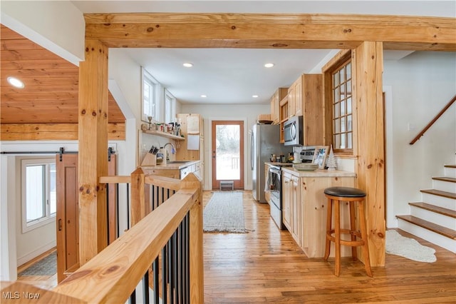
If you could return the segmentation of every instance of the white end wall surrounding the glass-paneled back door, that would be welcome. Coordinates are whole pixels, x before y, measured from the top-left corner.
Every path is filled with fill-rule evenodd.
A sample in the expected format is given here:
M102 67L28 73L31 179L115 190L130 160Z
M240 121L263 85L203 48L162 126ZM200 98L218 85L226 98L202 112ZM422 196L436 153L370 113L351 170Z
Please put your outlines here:
M257 123L259 114L269 113L271 107L264 105L207 105L182 104L182 113L199 113L204 119L204 190L212 189L212 121L232 120L244 121L244 188L252 190L252 172L250 171L250 136L249 131Z

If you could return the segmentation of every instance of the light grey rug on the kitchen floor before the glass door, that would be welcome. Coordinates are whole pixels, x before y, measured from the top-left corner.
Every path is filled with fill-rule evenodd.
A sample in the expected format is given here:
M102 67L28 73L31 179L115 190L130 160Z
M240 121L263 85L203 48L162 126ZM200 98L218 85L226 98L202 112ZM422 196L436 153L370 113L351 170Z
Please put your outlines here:
M242 191L217 191L203 211L204 232L247 233Z

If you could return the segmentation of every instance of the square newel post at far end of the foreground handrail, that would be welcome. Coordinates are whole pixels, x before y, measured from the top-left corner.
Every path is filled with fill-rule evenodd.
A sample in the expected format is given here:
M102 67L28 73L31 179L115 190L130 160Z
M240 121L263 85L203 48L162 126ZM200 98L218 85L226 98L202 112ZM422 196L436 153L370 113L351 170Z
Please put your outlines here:
M204 303L204 260L202 248L202 182L193 173L182 180L182 188L198 188L190 209L190 303Z

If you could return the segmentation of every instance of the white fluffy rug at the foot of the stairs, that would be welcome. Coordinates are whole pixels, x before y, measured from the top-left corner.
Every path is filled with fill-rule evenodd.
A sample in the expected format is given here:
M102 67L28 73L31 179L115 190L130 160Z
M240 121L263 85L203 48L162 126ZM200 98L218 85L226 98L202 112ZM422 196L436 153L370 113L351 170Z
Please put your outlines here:
M396 230L386 230L386 253L425 263L437 260L433 248L423 246L413 238L405 238Z

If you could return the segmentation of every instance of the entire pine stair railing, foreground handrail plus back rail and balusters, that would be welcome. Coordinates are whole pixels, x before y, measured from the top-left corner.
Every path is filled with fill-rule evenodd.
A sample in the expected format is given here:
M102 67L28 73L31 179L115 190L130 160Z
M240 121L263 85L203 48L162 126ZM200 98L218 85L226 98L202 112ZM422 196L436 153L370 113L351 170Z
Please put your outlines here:
M193 173L182 181L136 173L143 184L135 184L132 173L131 183L138 186L132 186L132 207L137 203L133 188L142 191L145 185L158 185L177 191L53 290L21 282L2 282L2 294L11 295L11 303L16 292L40 294L33 303L125 303L135 296L135 288L147 276L147 270L185 222L187 235L190 235L187 244L189 300L185 303L204 303L201 181ZM158 293L157 289L158 286L154 293Z

